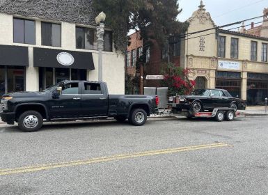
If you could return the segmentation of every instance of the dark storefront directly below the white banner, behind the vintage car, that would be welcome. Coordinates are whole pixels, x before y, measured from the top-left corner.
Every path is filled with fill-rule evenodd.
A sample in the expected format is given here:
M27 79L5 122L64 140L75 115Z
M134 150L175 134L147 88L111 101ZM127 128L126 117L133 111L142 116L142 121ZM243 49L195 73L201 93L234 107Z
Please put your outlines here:
M226 89L234 98L241 98L241 72L217 72L216 88Z

